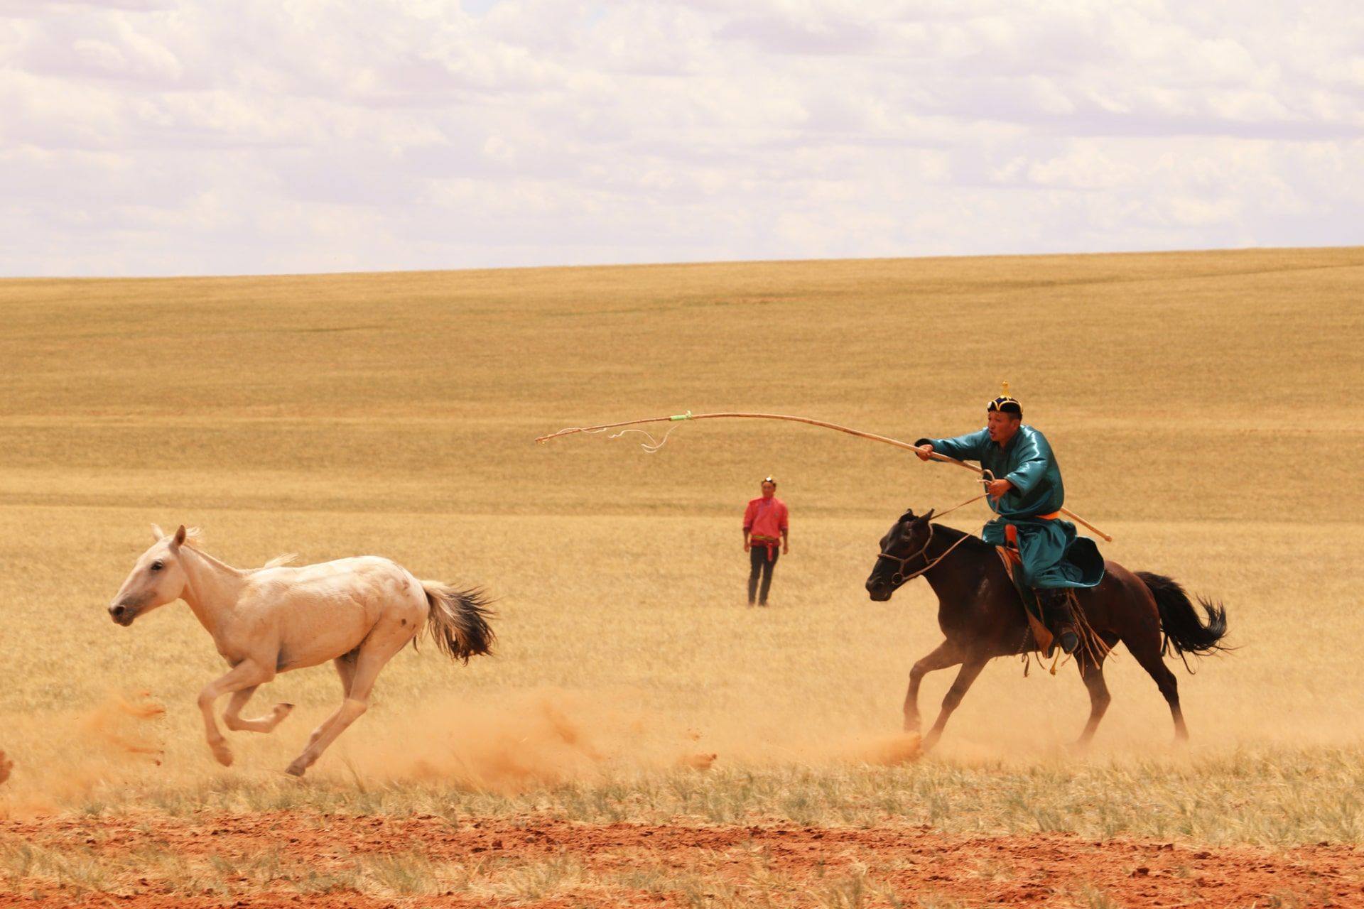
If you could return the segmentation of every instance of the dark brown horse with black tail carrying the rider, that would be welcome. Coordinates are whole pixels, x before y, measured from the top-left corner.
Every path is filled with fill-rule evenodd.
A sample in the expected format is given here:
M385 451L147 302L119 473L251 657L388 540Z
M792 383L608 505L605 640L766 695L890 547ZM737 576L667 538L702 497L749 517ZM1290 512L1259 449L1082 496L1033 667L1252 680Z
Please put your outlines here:
M937 743L948 717L986 662L1037 650L1023 601L994 546L979 537L934 525L932 518L932 511L923 517L906 511L881 537L881 553L866 579L866 590L877 602L889 600L900 585L919 575L938 597L938 627L947 641L910 671L910 690L904 695L906 732L919 730L918 699L923 676L955 665L962 669L943 698L937 722L923 739L925 751ZM1226 650L1221 643L1226 635L1226 611L1200 597L1199 604L1207 613L1204 624L1178 583L1147 571L1128 571L1114 561L1105 561L1103 581L1097 587L1078 589L1076 596L1086 620L1103 643L1113 647L1121 641L1155 680L1170 705L1174 735L1188 739L1178 685L1163 656L1170 649L1181 658ZM1075 657L1090 691L1090 721L1078 743L1086 745L1108 710L1109 692L1103 683L1102 649L1080 647Z

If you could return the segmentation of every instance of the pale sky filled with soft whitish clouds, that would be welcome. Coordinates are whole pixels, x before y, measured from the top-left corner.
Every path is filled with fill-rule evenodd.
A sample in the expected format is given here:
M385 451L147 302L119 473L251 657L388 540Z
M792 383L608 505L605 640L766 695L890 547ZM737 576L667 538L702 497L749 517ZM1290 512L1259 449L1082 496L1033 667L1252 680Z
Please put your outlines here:
M0 0L0 277L1361 225L1357 0Z

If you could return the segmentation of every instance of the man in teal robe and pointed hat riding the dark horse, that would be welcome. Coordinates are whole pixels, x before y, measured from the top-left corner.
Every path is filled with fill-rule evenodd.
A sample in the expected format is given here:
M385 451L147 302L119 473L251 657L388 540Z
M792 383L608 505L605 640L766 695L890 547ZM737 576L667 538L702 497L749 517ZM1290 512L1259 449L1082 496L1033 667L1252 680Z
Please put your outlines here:
M919 439L919 461L944 454L958 461L979 461L986 470L990 511L981 538L996 546L1018 546L1019 583L1038 593L1045 621L1065 653L1079 646L1068 587L1093 587L1103 579L1103 559L1088 537L1061 519L1065 488L1046 436L1023 422L1023 405L1003 394L986 405L986 427L952 439ZM1048 649L1050 656L1050 649Z

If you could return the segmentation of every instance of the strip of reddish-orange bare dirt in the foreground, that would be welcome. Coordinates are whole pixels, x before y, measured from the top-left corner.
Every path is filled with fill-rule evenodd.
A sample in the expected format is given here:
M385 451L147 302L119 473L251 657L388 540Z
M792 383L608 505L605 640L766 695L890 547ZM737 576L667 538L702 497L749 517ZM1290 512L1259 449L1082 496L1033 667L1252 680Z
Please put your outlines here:
M779 880L773 905L1012 906L1364 906L1364 849L1319 844L1284 852L1252 848L1199 849L1155 841L1094 842L1068 834L947 837L919 827L870 830L771 826L584 825L537 816L405 819L351 815L259 814L48 818L0 820L0 853L19 842L82 857L115 857L155 848L187 860L218 856L236 864L278 850L281 865L336 869L357 857L420 853L431 861L488 861L513 868L567 857L582 865L577 887L550 899L447 893L375 898L353 890L300 894L286 880L231 895L173 893L168 882L131 878L115 893L82 893L49 879L16 879L0 867L0 906L82 905L199 909L209 906L686 906L697 894L667 887L630 889L621 879L656 869L662 878L697 875L730 882L739 902L761 902L762 880ZM829 887L865 868L881 890L863 902L831 902ZM761 869L761 871L760 871ZM760 871L756 876L754 872ZM764 876L768 875L768 876ZM229 876L228 883L232 883ZM1102 894L1097 897L1095 891ZM840 894L842 895L842 894ZM41 902L35 897L42 898ZM690 902L689 902L690 898ZM1109 902L1103 902L1106 898ZM723 905L726 899L711 901Z

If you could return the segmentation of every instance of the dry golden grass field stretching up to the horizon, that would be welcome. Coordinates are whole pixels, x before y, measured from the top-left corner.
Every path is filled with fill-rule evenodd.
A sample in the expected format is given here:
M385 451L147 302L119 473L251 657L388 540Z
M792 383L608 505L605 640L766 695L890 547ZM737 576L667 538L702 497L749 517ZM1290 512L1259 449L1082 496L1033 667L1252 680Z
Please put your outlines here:
M0 818L1361 844L1361 300L1364 248L3 281ZM1073 665L1024 679L998 660L938 751L892 760L936 601L918 581L873 604L862 583L904 507L974 495L963 470L767 421L683 424L653 455L640 436L533 443L685 410L956 435L1001 379L1057 450L1067 504L1116 537L1105 555L1225 602L1239 650L1177 668L1188 748L1120 649L1084 756L1065 748L1088 710ZM750 611L739 518L769 473L791 555ZM327 666L282 675L247 714L299 709L232 733L220 767L195 707L222 672L209 635L184 604L131 628L105 612L151 522L203 527L236 566L378 553L486 586L498 653L401 653L301 784L280 771L340 687ZM928 722L952 675L925 681ZM697 754L711 770L685 766ZM0 839L0 894L120 891L125 874ZM390 878L352 884L427 886ZM487 894L582 882L542 884Z

